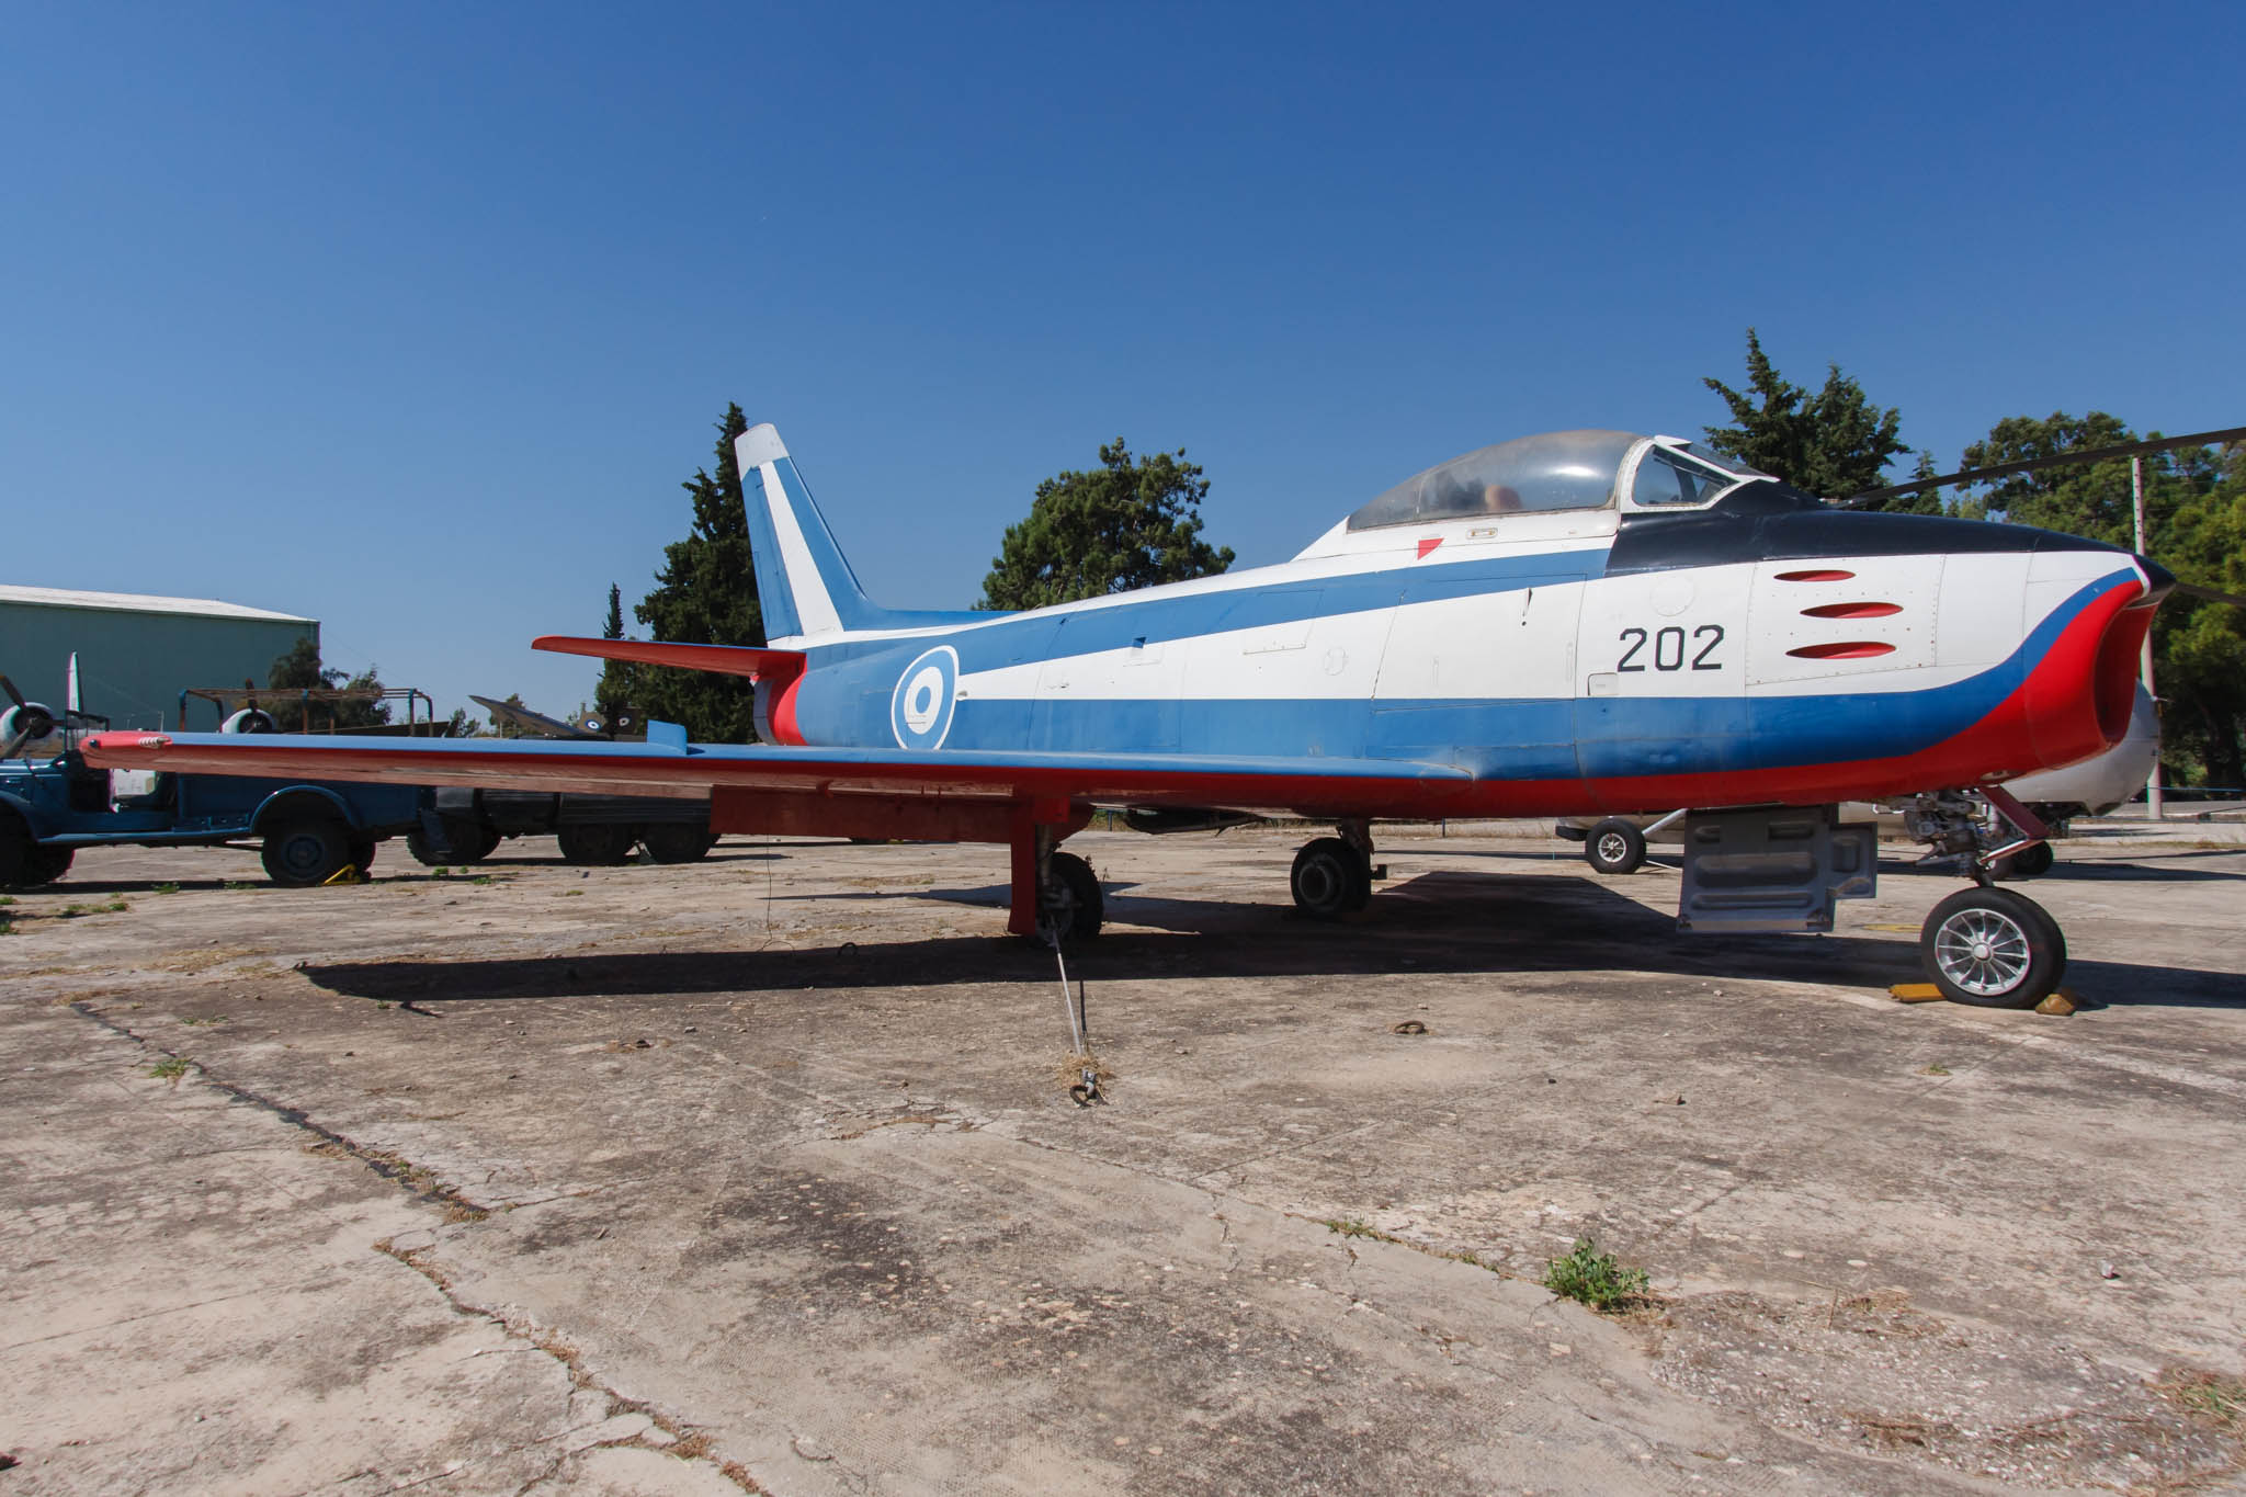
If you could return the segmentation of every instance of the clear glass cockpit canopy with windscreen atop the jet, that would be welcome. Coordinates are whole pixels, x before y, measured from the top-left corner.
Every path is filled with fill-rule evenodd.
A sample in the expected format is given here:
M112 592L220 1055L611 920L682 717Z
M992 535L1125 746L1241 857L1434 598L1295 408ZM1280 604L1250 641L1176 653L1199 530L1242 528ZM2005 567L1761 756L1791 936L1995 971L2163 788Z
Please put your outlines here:
M1635 465L1631 458L1637 458ZM1426 525L1480 514L1604 509L1628 483L1633 507L1702 507L1763 480L1693 442L1635 431L1547 431L1482 447L1406 478L1350 516L1350 530Z

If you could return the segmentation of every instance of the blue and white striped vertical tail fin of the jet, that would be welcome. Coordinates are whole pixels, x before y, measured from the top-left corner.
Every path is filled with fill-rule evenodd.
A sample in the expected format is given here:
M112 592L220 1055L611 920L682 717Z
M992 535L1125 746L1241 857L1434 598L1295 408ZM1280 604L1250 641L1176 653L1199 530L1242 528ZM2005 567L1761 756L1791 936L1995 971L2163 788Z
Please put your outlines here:
M849 635L865 628L914 628L988 619L988 613L898 613L878 608L858 586L795 458L770 422L732 442L748 505L748 548L757 561L757 601L764 637L779 649Z

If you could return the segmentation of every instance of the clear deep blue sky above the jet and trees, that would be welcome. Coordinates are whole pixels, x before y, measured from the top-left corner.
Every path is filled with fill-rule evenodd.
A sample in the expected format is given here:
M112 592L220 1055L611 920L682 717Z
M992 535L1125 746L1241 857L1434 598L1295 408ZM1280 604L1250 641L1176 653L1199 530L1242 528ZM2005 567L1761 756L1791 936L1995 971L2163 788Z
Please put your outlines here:
M2019 413L2230 426L2242 43L2235 4L18 4L0 581L308 613L445 709L566 711L595 667L528 640L649 586L728 399L894 606L973 601L1116 435L1278 561L1485 442L1720 422L1750 323L1945 465Z

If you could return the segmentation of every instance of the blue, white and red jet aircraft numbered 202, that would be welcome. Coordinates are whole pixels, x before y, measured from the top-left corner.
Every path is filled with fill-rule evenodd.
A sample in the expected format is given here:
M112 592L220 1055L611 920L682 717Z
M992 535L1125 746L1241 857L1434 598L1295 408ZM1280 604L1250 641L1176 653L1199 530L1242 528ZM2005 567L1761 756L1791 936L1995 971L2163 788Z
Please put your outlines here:
M1830 929L1875 878L1833 806L1916 797L1976 887L1920 949L2033 1003L2064 938L1988 869L2042 837L1999 781L2129 727L2174 579L2080 536L1826 505L1702 447L1518 438L1431 467L1278 566L1026 613L867 599L779 433L737 442L770 644L541 637L748 676L757 745L101 734L92 763L710 797L721 833L993 842L1008 929L1092 936L1094 808L1143 830L1307 817L1303 913L1372 891L1375 819L1691 806L1680 925ZM2006 812L1990 824L1976 790Z

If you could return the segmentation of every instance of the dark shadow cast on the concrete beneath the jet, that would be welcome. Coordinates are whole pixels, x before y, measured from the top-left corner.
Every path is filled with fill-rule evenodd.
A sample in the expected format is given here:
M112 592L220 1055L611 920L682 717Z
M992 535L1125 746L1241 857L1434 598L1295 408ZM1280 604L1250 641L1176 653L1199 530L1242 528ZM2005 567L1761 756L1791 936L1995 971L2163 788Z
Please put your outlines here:
M1918 943L1909 938L1680 936L1667 913L1588 878L1428 873L1384 889L1372 909L1336 925L1303 920L1291 907L1141 898L1123 889L1114 887L1110 920L1152 929L1116 929L1071 947L1071 974L1101 983L1631 970L1875 990L1923 981ZM1004 887L874 898L1002 907ZM303 967L303 976L346 997L458 1003L1042 983L1051 981L1053 965L1051 954L1029 940L948 936L811 949L326 963ZM2084 961L2066 981L2116 1005L2246 1003L2246 983L2228 972Z

